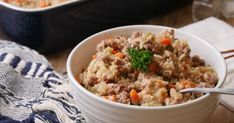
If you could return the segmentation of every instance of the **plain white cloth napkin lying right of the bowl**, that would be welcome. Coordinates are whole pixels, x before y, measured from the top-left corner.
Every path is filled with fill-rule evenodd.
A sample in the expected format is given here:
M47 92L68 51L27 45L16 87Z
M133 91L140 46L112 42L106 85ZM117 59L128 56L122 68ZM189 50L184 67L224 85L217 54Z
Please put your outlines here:
M182 27L179 30L198 36L214 45L218 50L234 49L234 28L215 17ZM230 54L225 54L230 55ZM234 58L226 60L228 74L223 88L234 88ZM221 95L220 103L234 111L234 96Z

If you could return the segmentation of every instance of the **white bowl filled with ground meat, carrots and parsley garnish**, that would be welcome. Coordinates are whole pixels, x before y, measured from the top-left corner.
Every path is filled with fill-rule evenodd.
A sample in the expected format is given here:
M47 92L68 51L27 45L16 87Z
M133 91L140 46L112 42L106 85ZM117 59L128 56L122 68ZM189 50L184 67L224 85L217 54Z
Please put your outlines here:
M87 121L100 123L205 122L219 95L180 90L219 88L226 78L224 59L212 45L153 25L88 37L70 53L67 71Z

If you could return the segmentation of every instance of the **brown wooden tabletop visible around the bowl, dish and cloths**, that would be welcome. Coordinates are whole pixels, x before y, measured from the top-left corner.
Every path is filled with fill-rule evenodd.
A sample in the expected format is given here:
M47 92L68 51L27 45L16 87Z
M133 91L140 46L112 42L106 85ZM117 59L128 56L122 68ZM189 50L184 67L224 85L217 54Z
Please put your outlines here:
M221 19L225 20L226 22L234 26L234 19L233 20L225 19L223 17L221 17ZM145 21L145 24L163 25L175 28L179 28L191 23L192 23L191 4L182 7L180 9L177 9L176 11L169 12L166 15ZM1 38L5 37L1 33L0 36ZM71 49L67 49L61 52L48 54L46 55L46 57L51 62L55 70L62 73L66 72L66 67L65 67L66 59L70 51ZM216 111L211 116L208 123L234 123L234 112L230 111L229 109L225 108L222 105L219 105Z

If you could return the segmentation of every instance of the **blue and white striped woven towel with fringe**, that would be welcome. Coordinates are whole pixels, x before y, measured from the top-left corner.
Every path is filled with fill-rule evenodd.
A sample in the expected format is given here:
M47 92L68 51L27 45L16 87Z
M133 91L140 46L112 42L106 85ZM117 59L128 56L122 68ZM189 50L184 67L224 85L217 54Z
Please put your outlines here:
M0 122L85 122L65 78L36 51L0 41Z

